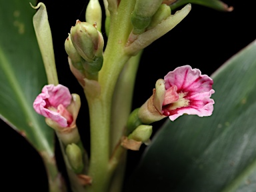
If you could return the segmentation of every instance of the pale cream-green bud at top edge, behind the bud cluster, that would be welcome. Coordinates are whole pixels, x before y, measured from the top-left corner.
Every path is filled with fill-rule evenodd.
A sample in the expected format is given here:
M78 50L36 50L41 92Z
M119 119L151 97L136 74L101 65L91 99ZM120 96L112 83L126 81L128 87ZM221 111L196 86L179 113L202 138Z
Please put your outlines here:
M101 5L99 5L99 1L90 0L85 12L86 21L91 25L94 25L96 23L97 30L101 31L101 17L102 17L102 11L101 11Z

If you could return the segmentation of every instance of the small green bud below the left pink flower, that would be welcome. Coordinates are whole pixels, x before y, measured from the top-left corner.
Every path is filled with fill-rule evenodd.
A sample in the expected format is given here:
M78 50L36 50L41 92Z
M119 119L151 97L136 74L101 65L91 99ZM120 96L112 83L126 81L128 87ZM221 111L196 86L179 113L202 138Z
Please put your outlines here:
M75 173L83 171L83 155L81 149L75 144L71 143L66 147L67 159Z

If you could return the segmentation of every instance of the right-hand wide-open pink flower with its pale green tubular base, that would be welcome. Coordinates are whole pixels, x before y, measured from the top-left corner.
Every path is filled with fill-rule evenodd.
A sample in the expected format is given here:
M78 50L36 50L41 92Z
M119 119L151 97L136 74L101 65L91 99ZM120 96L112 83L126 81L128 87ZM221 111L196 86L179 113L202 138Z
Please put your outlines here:
M169 116L174 121L183 114L210 116L213 113L213 79L201 75L189 65L177 67L158 79L153 95L139 109L143 123L153 123Z

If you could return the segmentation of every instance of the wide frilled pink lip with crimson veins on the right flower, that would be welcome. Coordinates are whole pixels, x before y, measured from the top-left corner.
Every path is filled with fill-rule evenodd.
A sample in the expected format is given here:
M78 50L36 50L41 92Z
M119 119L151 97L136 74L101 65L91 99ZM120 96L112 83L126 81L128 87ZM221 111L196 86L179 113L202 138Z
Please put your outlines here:
M177 67L174 71L165 75L166 93L173 87L177 87L179 99L173 103L163 102L163 115L169 116L171 121L184 113L198 115L199 117L210 116L213 113L213 99L211 94L213 79L208 75L201 75L199 69L192 69L189 65Z

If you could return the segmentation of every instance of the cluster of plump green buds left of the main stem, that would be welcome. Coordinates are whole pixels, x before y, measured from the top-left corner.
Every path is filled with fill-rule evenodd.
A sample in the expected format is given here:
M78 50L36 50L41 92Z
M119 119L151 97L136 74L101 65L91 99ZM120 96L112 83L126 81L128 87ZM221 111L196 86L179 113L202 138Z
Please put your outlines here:
M103 64L104 40L96 25L77 20L65 41L69 67L84 87L84 79L97 80Z

